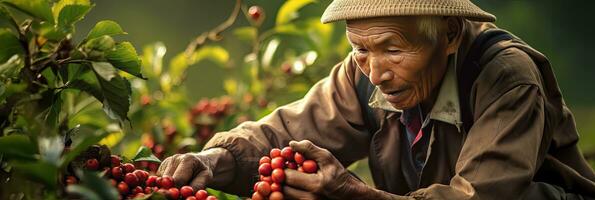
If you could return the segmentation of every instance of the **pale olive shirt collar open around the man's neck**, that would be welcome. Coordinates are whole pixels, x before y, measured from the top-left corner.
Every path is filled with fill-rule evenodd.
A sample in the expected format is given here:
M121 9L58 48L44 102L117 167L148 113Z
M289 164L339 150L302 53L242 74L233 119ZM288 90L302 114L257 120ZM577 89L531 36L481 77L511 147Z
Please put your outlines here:
M448 69L442 80L438 97L436 102L428 114L428 118L446 122L455 125L459 131L463 122L461 121L461 109L459 106L459 90L457 85L456 74L456 54L448 58ZM382 92L376 87L372 92L372 96L368 100L368 105L371 108L380 108L386 111L399 112L403 111L394 108L382 95Z

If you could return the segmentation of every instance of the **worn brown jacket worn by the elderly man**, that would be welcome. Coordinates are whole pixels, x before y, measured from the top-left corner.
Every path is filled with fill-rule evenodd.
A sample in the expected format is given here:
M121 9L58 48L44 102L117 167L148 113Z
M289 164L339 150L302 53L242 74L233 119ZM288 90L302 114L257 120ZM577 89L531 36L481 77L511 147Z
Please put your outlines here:
M363 74L348 56L306 96L257 122L221 132L205 148L223 147L236 161L226 188L247 195L258 160L273 147L308 139L345 166L369 157L376 187L415 199L565 199L595 197L595 173L581 156L578 133L547 59L527 45L500 42L474 83L473 126L461 128L454 71L473 39L491 23L465 23L464 39L429 114L432 132L419 188L404 183L400 164L400 112L373 95L380 130L367 133L356 96ZM499 51L505 47L505 50ZM498 52L498 53L494 53Z

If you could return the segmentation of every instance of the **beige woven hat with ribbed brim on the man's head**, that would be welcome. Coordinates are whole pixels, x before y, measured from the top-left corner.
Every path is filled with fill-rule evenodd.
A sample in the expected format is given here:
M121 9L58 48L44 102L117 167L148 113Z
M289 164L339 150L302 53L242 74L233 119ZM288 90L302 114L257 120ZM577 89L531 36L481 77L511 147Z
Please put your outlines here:
M322 23L387 16L460 16L494 22L496 17L469 0L334 0L322 14Z

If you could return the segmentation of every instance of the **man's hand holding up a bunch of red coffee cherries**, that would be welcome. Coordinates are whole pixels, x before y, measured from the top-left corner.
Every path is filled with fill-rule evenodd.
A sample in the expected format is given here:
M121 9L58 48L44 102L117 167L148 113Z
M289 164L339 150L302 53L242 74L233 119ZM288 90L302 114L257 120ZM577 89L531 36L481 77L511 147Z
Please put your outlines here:
M316 161L319 169L316 174L286 169L283 193L288 199L408 199L369 187L352 176L330 151L308 140L291 141L289 146Z

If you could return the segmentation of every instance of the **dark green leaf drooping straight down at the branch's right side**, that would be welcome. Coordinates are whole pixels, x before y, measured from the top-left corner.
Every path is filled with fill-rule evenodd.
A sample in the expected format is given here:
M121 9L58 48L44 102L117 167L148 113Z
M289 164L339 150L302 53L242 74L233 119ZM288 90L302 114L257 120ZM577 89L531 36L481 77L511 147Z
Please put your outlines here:
M127 121L132 94L130 82L122 78L110 63L93 62L92 67L101 86L104 112L112 119Z

